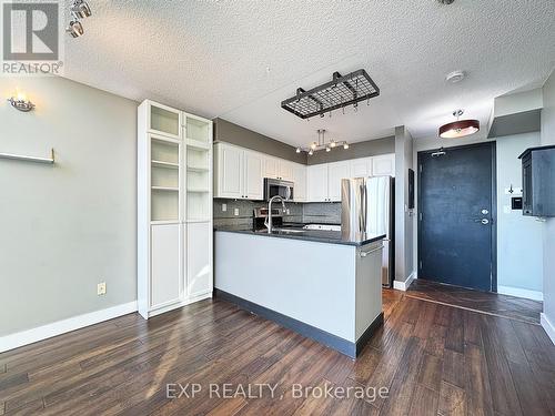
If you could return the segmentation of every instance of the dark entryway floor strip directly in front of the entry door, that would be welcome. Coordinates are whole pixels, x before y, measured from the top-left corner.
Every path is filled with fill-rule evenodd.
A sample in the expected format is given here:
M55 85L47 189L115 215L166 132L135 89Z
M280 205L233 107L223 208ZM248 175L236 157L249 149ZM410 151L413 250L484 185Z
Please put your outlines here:
M532 324L539 324L539 313L543 311L542 302L538 301L473 291L423 278L415 280L406 295Z

